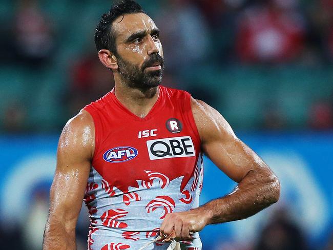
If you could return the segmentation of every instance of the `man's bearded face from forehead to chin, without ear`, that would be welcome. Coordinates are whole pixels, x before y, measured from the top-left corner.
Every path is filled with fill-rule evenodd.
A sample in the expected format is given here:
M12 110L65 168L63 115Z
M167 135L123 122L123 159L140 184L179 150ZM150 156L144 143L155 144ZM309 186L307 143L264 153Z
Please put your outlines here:
M159 30L146 14L119 16L113 22L118 71L132 87L157 87L164 69Z

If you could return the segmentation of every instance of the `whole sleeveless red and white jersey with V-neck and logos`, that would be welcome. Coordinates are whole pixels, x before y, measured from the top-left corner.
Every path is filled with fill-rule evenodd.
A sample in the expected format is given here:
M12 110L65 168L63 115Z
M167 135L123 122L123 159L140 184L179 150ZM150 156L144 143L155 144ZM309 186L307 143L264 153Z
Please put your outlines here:
M95 124L95 152L85 202L91 224L88 249L139 249L159 235L169 213L199 206L203 164L191 96L159 87L144 118L117 100L114 90L84 109ZM198 233L181 249L201 250ZM157 241L147 249L166 249Z

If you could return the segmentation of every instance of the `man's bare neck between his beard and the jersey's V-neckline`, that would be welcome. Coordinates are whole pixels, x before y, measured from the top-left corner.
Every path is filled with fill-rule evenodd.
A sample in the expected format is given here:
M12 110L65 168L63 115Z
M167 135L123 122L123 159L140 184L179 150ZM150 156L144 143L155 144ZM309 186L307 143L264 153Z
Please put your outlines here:
M145 117L159 97L159 88L134 88L117 81L115 77L115 95L121 104L138 117Z

